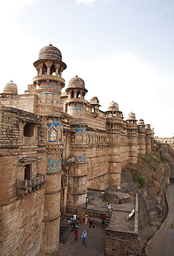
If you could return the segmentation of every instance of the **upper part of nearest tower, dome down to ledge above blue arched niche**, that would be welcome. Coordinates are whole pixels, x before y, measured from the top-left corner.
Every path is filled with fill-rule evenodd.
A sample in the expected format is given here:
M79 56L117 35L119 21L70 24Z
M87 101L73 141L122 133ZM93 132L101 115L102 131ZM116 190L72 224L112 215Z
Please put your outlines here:
M38 113L45 116L59 115L61 89L65 86L61 73L66 69L61 52L52 44L43 47L39 51L38 60L33 65L37 69L33 84L38 95Z

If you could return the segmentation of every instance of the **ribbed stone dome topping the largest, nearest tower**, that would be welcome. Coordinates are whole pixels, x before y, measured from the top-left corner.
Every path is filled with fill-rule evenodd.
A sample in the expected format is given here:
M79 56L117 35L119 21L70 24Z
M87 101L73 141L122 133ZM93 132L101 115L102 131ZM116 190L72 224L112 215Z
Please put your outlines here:
M39 57L38 60L61 60L61 51L57 49L55 46L52 46L52 44L49 44L49 46L41 48L41 51L39 51Z

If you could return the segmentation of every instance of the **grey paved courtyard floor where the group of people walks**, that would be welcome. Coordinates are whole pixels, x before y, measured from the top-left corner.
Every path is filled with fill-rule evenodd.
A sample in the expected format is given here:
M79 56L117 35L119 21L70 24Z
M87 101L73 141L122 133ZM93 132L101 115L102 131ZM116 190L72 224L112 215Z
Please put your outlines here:
M78 220L77 220L78 221ZM88 225L79 224L78 241L75 240L75 233L71 232L71 228L66 230L68 240L66 244L59 244L59 256L104 256L105 250L105 230L95 225L95 228L88 228ZM87 247L82 245L82 232L87 232Z

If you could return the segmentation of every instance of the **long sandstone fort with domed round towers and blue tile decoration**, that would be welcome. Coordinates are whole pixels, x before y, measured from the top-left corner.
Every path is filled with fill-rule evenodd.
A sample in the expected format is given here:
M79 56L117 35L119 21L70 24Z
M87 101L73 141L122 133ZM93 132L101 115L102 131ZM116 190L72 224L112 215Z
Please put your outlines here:
M106 201L115 203L110 221L121 198L126 206L120 218L135 210L127 230L120 229L121 222L112 224L115 230L108 226L106 255L112 255L113 244L120 246L118 236L124 237L126 253L137 252L138 199L122 194L121 174L151 152L151 125L132 112L124 120L114 101L101 111L96 96L85 99L88 90L80 77L72 77L62 91L66 64L55 46L43 47L33 65L37 75L25 93L18 95L11 81L0 98L0 255L58 255L61 214L78 214L91 191L107 192ZM99 211L93 214L99 217Z

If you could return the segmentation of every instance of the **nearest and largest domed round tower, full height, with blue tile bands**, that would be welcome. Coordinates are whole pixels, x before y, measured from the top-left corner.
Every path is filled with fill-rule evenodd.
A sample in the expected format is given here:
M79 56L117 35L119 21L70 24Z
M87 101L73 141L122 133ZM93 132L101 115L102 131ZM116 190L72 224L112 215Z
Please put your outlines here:
M39 58L33 64L37 69L33 80L38 96L37 113L47 117L47 179L40 247L41 253L47 255L57 255L59 251L61 155L64 145L60 95L65 84L61 73L66 68L61 59L59 49L50 44L39 51Z

